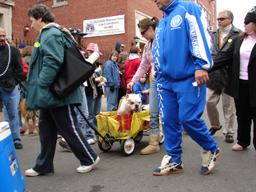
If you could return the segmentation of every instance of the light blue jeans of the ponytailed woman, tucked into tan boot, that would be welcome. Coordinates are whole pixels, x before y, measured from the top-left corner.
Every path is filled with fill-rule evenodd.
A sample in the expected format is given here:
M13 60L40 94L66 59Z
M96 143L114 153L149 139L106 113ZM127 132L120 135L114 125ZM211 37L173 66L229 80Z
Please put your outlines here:
M159 134L159 112L155 81L151 81L149 90L149 134Z

